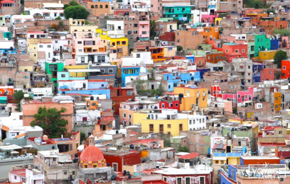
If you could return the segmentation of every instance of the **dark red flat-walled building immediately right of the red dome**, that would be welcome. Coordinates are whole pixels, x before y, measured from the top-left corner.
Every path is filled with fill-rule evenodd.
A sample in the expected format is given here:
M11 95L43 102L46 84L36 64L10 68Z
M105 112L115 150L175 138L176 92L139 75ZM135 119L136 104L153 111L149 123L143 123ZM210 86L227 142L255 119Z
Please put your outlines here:
M103 155L114 171L122 172L123 165L141 164L140 151L104 151Z

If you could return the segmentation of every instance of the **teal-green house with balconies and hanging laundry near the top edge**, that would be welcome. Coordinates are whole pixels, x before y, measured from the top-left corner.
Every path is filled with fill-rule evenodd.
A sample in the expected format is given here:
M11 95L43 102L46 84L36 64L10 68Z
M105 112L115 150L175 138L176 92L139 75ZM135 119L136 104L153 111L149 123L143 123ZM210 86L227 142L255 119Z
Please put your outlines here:
M191 10L193 10L194 7L194 5L163 6L163 17L189 22L192 15Z

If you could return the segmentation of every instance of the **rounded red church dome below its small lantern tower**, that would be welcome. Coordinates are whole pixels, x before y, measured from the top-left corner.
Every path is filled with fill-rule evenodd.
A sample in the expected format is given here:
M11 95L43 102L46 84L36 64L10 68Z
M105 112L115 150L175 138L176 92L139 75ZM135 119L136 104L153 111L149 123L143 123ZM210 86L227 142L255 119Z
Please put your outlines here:
M88 146L82 152L79 160L84 161L84 163L88 163L92 161L92 163L97 163L98 161L104 160L104 155L99 148L95 146Z

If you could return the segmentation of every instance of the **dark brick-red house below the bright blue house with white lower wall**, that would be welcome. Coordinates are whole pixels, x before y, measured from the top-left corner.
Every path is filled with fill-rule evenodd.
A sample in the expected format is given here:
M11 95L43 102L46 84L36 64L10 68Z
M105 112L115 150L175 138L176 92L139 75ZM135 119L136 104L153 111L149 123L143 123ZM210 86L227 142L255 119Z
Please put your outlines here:
M113 88L110 86L110 96L113 102L113 110L115 115L119 115L120 102L128 99L135 99L133 87Z

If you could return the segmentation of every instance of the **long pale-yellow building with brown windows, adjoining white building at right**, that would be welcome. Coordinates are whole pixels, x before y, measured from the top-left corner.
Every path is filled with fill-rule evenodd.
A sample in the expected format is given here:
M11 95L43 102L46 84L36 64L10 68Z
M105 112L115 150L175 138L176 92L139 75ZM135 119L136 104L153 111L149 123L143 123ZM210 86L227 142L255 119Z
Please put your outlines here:
M188 119L156 119L156 113L135 112L134 123L142 126L142 133L163 133L179 136L179 131L188 130ZM153 119L155 118L155 119Z

